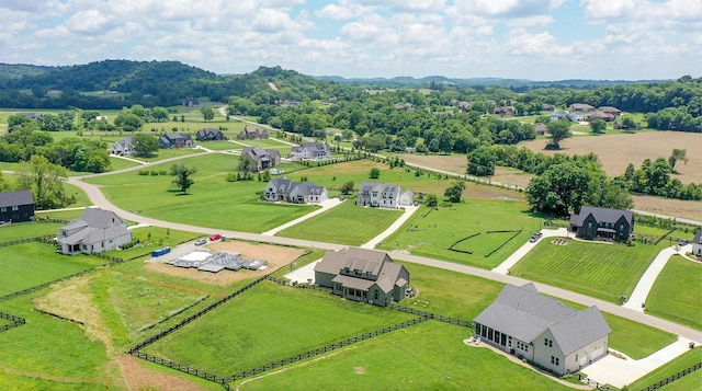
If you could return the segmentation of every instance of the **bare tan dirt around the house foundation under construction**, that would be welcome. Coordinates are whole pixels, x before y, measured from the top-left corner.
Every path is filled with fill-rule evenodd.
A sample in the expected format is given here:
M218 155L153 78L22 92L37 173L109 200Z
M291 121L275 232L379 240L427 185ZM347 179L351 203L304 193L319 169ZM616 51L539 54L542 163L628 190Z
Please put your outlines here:
M212 253L217 252L238 252L241 253L241 257L245 260L260 258L268 261L268 267L264 271L222 271L217 274L199 272L191 268L176 267L163 263L149 263L145 267L152 272L168 274L170 276L193 278L202 283L213 285L229 285L231 283L263 276L272 273L282 266L295 261L305 251L302 249L283 248L271 244L256 244L249 242L230 241L230 242L215 242L207 244L205 249Z

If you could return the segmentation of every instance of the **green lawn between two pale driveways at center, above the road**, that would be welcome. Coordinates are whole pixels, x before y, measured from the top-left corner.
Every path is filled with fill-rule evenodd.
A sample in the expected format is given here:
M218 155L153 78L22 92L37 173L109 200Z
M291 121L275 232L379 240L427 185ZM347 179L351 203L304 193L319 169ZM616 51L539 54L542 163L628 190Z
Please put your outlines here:
M375 238L403 215L401 210L366 208L354 199L290 227L279 237L361 245Z

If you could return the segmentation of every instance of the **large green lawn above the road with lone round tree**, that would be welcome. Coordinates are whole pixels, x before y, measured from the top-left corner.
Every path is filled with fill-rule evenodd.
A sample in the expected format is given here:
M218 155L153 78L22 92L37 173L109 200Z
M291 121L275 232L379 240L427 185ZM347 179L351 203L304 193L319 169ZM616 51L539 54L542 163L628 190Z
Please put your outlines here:
M258 181L226 182L227 172L234 171L239 159L210 153L184 161L197 173L186 195L171 184L169 175L137 175L127 172L88 179L115 205L127 210L139 210L168 221L178 221L214 229L264 232L294 220L315 207L271 204L259 200L265 183ZM171 163L155 165L150 170L169 170Z

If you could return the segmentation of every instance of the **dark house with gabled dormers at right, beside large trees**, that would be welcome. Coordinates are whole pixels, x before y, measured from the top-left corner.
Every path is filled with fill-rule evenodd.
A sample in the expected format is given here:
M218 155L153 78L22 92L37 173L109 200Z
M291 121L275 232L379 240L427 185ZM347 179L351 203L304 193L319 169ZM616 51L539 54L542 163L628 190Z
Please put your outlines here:
M579 214L570 215L570 231L582 239L626 242L634 232L634 214L631 210L584 206Z

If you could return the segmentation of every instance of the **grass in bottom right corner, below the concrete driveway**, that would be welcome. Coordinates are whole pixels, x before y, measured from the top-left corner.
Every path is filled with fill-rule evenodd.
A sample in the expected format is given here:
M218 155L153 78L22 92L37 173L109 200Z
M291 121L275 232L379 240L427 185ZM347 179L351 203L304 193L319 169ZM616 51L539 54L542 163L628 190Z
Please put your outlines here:
M694 348L686 352L670 363L664 364L660 368L653 372L637 379L633 383L629 384L629 390L637 391L646 387L653 386L658 381L665 380L684 369L694 366L698 363L702 363L702 348ZM689 391L699 390L702 384L702 369L698 369L692 373L689 373L681 379L678 379L661 388L664 391Z

